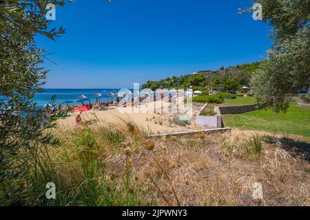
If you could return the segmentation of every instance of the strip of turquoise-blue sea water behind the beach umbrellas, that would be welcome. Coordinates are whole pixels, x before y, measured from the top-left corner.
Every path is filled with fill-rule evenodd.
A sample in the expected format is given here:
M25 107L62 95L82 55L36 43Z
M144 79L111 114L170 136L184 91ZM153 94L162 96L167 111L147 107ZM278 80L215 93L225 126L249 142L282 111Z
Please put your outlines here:
M79 96L84 95L90 98L91 102L96 102L95 94L107 95L111 92L117 94L119 89L43 89L39 94L36 94L32 100L37 102L38 107L42 107L44 104L48 104L51 101L53 95L56 95L55 104L61 104L65 100L71 100L72 104L81 104L76 102L79 100ZM101 102L107 100L116 100L116 97L101 98Z

